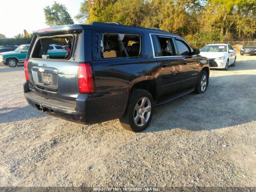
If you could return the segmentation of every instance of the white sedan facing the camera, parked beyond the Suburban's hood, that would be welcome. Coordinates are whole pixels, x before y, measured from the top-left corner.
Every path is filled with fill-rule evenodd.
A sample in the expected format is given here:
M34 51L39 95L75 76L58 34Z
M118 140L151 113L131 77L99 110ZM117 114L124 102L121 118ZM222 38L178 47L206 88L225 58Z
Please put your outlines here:
M236 65L236 51L230 44L209 44L202 48L200 55L208 58L210 68L228 70Z

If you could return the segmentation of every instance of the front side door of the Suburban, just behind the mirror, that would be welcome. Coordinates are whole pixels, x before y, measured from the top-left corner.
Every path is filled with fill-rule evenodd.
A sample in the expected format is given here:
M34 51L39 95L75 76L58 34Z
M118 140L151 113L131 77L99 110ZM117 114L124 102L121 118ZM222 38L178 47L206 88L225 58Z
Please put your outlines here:
M193 88L198 81L198 60L192 56L190 46L181 38L175 38L178 54L180 55L182 64L182 82L181 90Z

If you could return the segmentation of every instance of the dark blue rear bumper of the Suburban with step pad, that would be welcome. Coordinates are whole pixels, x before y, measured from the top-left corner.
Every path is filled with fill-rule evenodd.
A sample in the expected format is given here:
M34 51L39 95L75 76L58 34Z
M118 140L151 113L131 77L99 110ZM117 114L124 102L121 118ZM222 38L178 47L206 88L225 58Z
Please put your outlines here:
M75 102L52 100L30 92L28 82L24 83L24 96L28 104L42 112L82 124L120 118L128 100L122 93L78 94Z

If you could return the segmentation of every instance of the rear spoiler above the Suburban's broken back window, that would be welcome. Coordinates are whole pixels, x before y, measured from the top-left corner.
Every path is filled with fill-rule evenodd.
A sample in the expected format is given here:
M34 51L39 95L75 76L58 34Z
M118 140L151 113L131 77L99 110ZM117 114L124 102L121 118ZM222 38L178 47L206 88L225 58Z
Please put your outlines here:
M33 35L40 35L40 34L49 34L49 33L55 33L55 32L70 32L75 30L82 30L84 29L82 26L78 24L74 25L61 25L61 26L55 26L50 28L44 28L37 31L33 31Z

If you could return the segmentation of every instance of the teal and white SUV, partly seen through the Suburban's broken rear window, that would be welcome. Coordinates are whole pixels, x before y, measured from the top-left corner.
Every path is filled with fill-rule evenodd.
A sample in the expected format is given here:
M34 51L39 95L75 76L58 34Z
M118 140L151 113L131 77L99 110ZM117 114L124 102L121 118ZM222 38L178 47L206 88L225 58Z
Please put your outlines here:
M20 45L14 51L0 53L0 63L8 65L9 67L16 67L18 64L23 64L28 52L29 44ZM66 56L67 50L60 45L50 44L47 55L49 57Z

